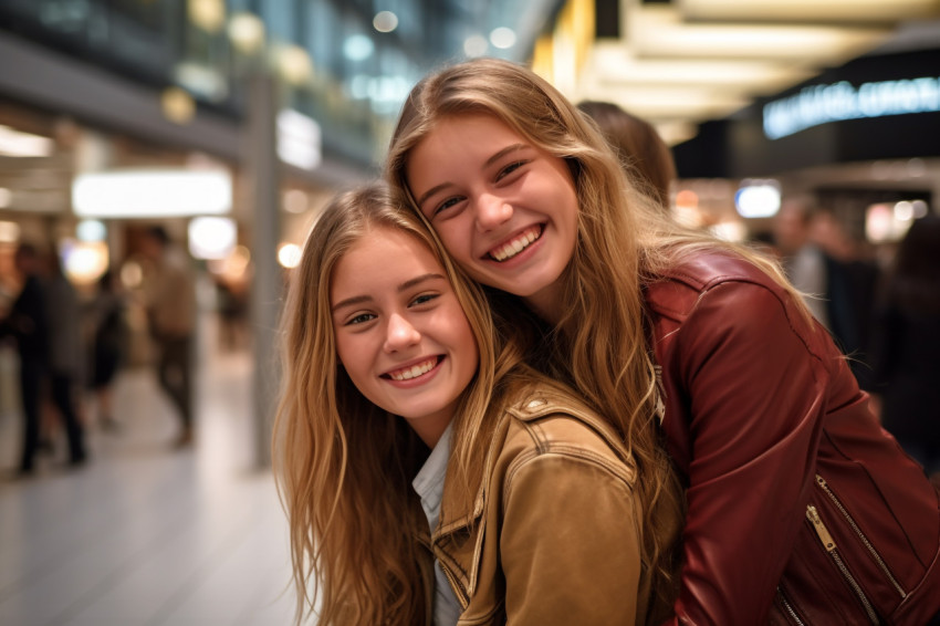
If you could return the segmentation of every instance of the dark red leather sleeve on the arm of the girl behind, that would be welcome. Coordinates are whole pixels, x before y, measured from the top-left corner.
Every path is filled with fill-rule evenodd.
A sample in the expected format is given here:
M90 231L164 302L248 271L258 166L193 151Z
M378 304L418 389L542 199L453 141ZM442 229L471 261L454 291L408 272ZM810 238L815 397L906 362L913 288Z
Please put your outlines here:
M829 340L786 296L727 282L675 341L664 365L685 396L691 457L670 624L759 624L805 519L828 383L811 346Z

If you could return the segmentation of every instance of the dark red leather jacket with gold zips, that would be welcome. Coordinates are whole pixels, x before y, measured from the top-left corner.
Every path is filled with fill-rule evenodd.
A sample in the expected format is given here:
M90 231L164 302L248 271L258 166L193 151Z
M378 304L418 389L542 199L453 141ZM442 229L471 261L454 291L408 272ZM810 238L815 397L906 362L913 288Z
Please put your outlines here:
M740 259L664 279L647 305L689 505L671 624L927 623L938 492L826 331Z

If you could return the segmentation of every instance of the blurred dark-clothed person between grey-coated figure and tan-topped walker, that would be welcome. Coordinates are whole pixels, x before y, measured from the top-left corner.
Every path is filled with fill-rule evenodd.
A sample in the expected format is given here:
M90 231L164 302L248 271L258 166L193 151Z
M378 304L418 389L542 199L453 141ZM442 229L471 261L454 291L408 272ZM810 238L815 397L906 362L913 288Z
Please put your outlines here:
M123 361L126 340L125 302L119 289L116 275L108 269L98 279L86 304L87 387L94 394L98 425L112 432L121 429L121 422L114 416L113 384Z

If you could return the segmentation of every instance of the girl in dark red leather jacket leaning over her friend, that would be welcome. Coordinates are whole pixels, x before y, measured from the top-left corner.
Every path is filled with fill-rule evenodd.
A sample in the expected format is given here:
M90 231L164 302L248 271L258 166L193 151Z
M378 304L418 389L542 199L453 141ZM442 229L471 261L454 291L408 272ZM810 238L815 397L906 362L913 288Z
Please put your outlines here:
M688 499L670 623L923 625L940 612L938 493L829 336L775 264L637 192L554 87L491 59L427 76L386 176L494 309L543 326L533 363L622 432L665 437ZM657 388L661 427L637 428Z

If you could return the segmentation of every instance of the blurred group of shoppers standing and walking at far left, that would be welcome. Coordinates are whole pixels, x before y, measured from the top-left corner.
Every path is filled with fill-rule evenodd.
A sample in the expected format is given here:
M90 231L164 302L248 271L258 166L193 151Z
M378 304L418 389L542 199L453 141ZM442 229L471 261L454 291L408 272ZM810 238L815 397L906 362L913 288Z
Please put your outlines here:
M65 467L70 469L90 459L86 431L91 426L121 432L113 386L127 361L132 303L146 311L157 380L179 416L174 446L192 444L190 352L196 294L191 270L160 226L142 231L137 252L147 267L138 292L126 290L119 277L106 270L92 289L80 293L58 253L31 242L18 246L13 264L19 290L0 316L0 341L8 342L18 356L22 444L17 477L35 473L36 457L54 453L60 432L67 441Z

